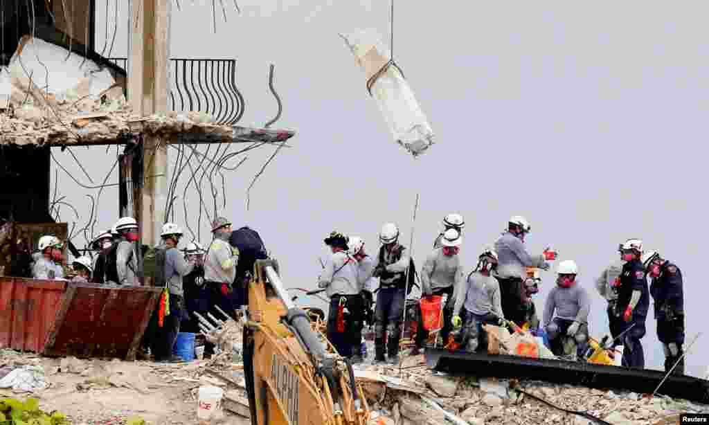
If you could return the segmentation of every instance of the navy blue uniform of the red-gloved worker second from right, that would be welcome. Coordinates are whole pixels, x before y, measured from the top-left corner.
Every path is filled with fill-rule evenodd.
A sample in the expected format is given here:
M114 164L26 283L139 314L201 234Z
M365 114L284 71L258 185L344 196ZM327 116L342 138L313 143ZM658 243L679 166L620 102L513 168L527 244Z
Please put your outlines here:
M635 309L632 310L632 318L630 322L623 320L623 329L625 331L633 324L635 326L625 333L623 343L623 365L627 368L644 368L645 356L642 351L640 339L645 336L645 318L650 305L650 295L647 290L647 279L645 276L645 268L640 260L628 261L623 264L623 271L620 273L620 289L618 290L618 311L622 315L630 304L632 293L640 291L640 300L637 302Z

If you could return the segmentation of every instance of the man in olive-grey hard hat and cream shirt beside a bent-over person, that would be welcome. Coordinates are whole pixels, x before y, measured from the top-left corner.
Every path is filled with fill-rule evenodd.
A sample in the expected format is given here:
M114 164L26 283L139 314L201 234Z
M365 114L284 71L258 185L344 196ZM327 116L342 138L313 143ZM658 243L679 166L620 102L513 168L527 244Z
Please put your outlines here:
M210 292L209 309L214 317L223 317L214 307L218 306L234 320L238 320L230 299L233 290L231 284L236 278L236 265L239 261L239 249L229 244L231 222L224 217L217 217L212 222L212 234L213 239L204 259L204 280Z

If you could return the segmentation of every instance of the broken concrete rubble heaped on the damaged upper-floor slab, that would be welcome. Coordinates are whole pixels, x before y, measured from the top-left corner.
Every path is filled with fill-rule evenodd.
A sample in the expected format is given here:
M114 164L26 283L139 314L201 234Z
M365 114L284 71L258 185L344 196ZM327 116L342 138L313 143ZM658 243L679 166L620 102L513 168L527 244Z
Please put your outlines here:
M26 35L9 66L0 67L0 143L105 144L138 132L233 137L231 127L207 113L135 116L124 86L124 76Z

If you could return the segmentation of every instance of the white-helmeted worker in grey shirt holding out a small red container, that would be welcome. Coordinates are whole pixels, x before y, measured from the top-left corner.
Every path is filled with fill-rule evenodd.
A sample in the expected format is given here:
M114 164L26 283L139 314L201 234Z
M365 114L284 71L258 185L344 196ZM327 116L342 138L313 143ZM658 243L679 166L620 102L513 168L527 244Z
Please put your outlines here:
M525 217L515 215L508 222L507 232L495 242L494 249L498 255L496 278L500 283L502 293L502 310L508 320L521 325L525 322L527 312L532 309L532 299L527 296L524 285L526 279L525 267L537 267L547 270L557 253L547 248L538 256L527 254L524 242L532 227Z

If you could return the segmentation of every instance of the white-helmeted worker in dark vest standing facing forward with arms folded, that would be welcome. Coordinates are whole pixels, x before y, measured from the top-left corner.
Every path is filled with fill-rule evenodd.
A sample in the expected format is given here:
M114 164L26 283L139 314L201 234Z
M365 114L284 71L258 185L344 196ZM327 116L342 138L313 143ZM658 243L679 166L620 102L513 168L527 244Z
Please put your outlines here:
M406 246L398 243L399 229L386 223L379 232L379 254L374 262L374 277L379 278L379 291L374 307L374 362L398 363L399 339L403 307L406 300L407 273L411 257ZM386 356L384 339L386 336Z

